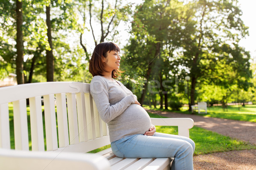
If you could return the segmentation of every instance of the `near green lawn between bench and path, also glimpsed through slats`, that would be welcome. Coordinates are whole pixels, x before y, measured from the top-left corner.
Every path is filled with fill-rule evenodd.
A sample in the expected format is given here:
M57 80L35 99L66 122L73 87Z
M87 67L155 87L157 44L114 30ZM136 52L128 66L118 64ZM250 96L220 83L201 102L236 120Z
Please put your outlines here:
M12 112L12 105L9 105L10 108L10 136L11 136L11 148L15 148L15 139L13 133L13 112ZM218 109L216 109L218 111ZM215 111L215 112L216 112ZM29 121L29 108L27 109L28 112L28 125L30 124ZM159 117L156 114L149 113L151 117ZM256 116L256 115L255 115ZM44 120L44 117L43 117ZM161 133L169 133L169 134L177 134L177 127L169 127L169 126L157 126L157 132ZM29 125L29 148L31 150L31 137L30 137L30 125ZM227 136L220 135L218 133L214 133L209 130L202 129L200 127L193 127L190 131L190 138L195 142L195 155L198 154L206 154L206 153L214 153L214 152L224 152L229 150L244 150L244 149L251 149L256 148L255 145L238 141L236 139L232 139ZM45 130L44 130L45 134ZM106 149L110 147L107 145L97 150L91 151L91 153L98 152L100 150ZM45 147L46 148L46 147Z

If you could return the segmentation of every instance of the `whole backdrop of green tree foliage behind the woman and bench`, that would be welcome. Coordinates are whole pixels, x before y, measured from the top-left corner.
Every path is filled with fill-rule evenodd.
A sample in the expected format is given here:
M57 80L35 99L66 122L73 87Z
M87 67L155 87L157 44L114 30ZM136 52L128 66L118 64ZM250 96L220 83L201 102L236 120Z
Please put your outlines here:
M125 72L119 79L141 103L177 110L189 101L224 108L229 102L256 102L256 59L238 44L248 28L237 0L0 0L0 79L17 74L18 2L24 83L47 81L47 50L54 57L54 81L90 82L92 37L94 45L123 46ZM127 44L119 42L120 24L128 26Z

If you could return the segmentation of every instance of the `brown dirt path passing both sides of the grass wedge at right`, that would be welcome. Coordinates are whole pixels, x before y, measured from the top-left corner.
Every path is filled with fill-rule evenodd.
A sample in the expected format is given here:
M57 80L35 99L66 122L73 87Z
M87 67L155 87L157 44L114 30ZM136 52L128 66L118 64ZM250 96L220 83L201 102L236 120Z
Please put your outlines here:
M147 110L171 118L188 117L195 126L256 145L256 123ZM234 150L194 156L194 170L256 170L256 150Z

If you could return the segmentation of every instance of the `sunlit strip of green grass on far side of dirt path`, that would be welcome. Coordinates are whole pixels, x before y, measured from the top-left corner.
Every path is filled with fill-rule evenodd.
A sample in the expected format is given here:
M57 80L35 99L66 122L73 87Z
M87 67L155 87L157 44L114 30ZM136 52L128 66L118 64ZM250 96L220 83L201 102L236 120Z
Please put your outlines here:
M148 106L145 106L145 108L150 109ZM188 111L188 107L182 107L181 111L171 111L171 108L170 110L164 110L164 109L159 109L159 106L157 106L157 109L154 109L154 110L191 114L191 112ZM232 120L240 120L240 121L247 121L247 122L256 122L256 105L240 106L240 111L239 111L238 105L228 106L228 111L223 111L222 106L211 106L207 108L207 114L205 113L198 114L197 112L194 112L194 114L198 116L215 117L215 118L221 118L221 119L232 119Z

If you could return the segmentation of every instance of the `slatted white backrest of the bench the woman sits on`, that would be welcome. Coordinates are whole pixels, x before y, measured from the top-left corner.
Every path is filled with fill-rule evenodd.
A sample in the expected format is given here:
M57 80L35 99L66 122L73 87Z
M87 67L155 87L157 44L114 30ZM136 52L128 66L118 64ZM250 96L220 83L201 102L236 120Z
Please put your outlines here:
M11 148L10 133L15 150L29 150L31 145L32 150L85 153L110 144L108 127L89 87L80 82L40 82L0 88L0 148Z

